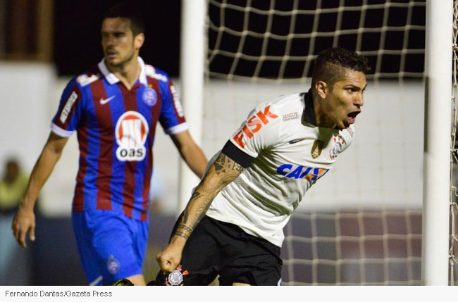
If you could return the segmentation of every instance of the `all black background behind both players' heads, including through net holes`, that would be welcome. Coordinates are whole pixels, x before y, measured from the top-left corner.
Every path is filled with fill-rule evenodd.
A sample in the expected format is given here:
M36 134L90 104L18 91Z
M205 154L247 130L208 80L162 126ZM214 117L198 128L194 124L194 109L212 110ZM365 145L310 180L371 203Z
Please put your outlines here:
M100 46L101 15L115 0L79 0L79 1L54 1L54 61L59 75L77 75L88 67L98 63L103 56ZM230 4L243 5L246 0L232 0ZM346 0L345 6L361 6L362 0ZM407 3L408 0L393 0L392 2ZM418 0L418 2L424 2ZM137 6L145 20L146 40L140 51L144 61L165 70L171 77L178 77L180 63L180 13L181 1L131 1L132 6ZM383 4L385 0L371 0L371 4ZM276 9L287 11L292 8L293 1L276 1ZM339 0L326 0L321 8L336 8ZM252 6L268 10L270 1L254 1ZM313 10L316 1L299 1L299 9ZM377 28L383 26L383 8L366 11L364 27ZM404 26L407 23L407 8L390 7L388 26ZM216 6L209 6L210 20L215 25L219 24L220 10ZM240 11L225 10L225 25L233 30L242 31L242 18L244 13ZM414 6L411 25L425 24L425 7ZM351 30L359 27L361 11L347 11L343 18L341 30ZM311 32L313 16L302 16L296 21L297 32ZM318 24L319 32L333 32L336 28L337 13L321 14ZM351 22L350 22L350 21ZM255 13L250 14L249 30L264 32L266 30L267 17ZM287 34L290 30L290 20L284 16L273 17L274 34ZM385 37L384 49L399 50L403 48L404 35L409 34L407 47L409 49L424 49L425 37L423 30L411 29L404 31L388 31ZM209 49L213 49L216 41L216 32L209 31ZM230 34L223 35L221 49L225 51L237 51L239 37ZM309 39L294 39L292 42L292 56L304 56L309 49ZM356 34L342 34L338 39L338 46L354 49L357 43ZM262 39L247 37L242 49L244 54L256 55L261 49ZM283 56L286 46L285 41L269 39L267 55ZM333 46L333 37L317 37L314 54ZM376 51L381 48L380 32L366 32L362 35L361 51ZM368 56L375 71L377 56ZM424 68L423 54L407 54L405 70L407 72L421 73ZM383 54L381 73L399 72L401 55ZM228 73L233 63L233 58L218 55L209 66L217 73ZM287 64L285 77L300 77L305 61L292 61ZM256 63L241 59L235 71L238 75L251 76ZM261 77L276 77L280 68L278 61L265 61L261 68ZM311 74L309 74L310 76Z

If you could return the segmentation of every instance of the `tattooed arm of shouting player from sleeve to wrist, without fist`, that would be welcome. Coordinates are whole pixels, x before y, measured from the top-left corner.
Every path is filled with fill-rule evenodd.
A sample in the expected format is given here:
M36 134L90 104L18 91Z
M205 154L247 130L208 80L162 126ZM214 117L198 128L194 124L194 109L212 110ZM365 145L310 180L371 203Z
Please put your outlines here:
M213 174L211 174L212 169ZM175 229L176 236L188 239L192 229L204 217L206 210L209 209L211 201L223 187L229 182L232 182L244 168L235 163L231 158L228 158L224 153L220 153L216 161L213 163L213 168L209 171L209 181L207 177L199 184L197 189L191 196L190 202L185 210L180 215L180 222ZM213 177L216 177L218 182L212 182ZM192 215L190 215L192 213Z

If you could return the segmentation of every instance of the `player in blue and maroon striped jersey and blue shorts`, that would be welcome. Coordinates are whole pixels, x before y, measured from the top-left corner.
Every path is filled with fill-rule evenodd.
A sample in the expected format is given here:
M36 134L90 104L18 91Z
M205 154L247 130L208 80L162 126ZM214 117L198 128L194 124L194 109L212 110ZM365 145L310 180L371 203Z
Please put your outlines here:
M63 91L51 134L12 225L21 246L26 247L27 232L35 240L35 200L68 137L77 132L80 168L72 221L83 268L94 285L121 278L145 284L142 264L157 122L197 176L202 177L206 165L187 130L172 81L139 56L144 30L133 10L125 2L104 15L104 58L70 80Z

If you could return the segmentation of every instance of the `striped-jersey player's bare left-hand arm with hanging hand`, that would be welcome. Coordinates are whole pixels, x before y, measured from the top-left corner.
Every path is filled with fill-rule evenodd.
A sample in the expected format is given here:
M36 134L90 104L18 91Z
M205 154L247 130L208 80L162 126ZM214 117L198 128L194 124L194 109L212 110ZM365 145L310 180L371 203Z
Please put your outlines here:
M54 170L54 165L61 158L63 147L67 141L68 138L59 137L51 132L32 170L25 195L20 201L18 211L13 219L13 225L11 226L14 237L18 241L18 244L23 247L27 247L25 243L27 232L30 232L30 240L35 240L35 214L33 213L33 208L35 207L40 189L42 189L52 170Z

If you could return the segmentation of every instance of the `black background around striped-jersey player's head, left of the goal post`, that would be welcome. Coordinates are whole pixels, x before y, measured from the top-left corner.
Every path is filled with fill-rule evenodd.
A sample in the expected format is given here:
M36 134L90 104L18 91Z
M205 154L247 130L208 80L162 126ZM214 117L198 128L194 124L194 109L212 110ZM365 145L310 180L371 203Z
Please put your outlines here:
M101 16L113 0L54 1L54 61L59 75L78 75L99 63ZM130 1L143 13L145 62L178 76L181 1Z

